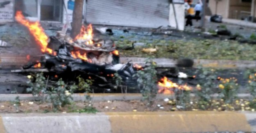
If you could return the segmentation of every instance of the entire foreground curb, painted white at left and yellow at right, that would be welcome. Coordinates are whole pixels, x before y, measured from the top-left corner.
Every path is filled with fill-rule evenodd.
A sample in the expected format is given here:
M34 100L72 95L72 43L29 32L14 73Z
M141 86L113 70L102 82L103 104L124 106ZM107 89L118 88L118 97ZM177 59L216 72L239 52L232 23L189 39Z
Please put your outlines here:
M250 119L249 119L250 118ZM203 133L255 131L256 113L111 112L0 114L1 133Z

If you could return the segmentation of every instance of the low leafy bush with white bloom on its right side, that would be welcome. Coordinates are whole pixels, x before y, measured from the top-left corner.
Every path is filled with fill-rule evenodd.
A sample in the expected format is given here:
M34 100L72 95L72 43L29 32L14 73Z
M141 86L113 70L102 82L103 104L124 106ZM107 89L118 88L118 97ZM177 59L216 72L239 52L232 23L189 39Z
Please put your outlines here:
M72 101L72 91L67 90L67 85L59 79L56 83L57 87L52 88L48 91L48 99L52 103L52 108L54 111L60 110L63 106L70 104Z

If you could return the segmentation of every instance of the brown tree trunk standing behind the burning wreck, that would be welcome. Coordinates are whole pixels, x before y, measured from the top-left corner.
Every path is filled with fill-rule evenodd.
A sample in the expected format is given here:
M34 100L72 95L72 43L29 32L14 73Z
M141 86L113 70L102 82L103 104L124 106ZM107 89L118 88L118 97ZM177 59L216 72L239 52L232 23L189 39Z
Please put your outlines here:
M79 34L83 24L83 5L84 0L75 0L75 8L73 11L71 23L72 30L70 35L73 39Z

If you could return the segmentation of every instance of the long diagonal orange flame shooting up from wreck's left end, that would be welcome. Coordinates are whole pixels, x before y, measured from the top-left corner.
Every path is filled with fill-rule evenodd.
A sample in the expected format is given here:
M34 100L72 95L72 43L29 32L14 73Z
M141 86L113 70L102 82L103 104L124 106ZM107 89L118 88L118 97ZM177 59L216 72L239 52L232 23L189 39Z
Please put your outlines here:
M41 47L42 52L48 52L52 54L52 49L47 48L48 36L46 36L38 21L30 22L29 20L26 20L21 11L16 12L15 19L18 21L18 23L29 29L29 32L34 37L36 43Z

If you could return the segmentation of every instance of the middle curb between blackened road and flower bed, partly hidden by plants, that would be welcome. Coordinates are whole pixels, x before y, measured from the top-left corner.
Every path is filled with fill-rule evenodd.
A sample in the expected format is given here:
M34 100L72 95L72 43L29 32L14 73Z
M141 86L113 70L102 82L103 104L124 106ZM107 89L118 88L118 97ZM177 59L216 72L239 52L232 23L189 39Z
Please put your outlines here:
M76 93L73 94L73 101L84 101L85 93ZM30 100L34 101L37 97L33 97L32 94L0 94L0 101L15 101L16 97L19 97L20 100ZM165 99L170 98L172 95L159 94L157 98ZM217 97L218 94L212 95L212 97ZM238 94L239 98L248 98L250 94ZM91 94L93 101L113 101L113 100L140 100L142 99L142 95L140 93L95 93ZM195 97L195 94L190 94L190 97Z

